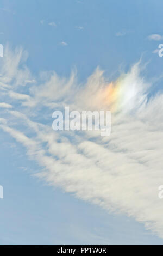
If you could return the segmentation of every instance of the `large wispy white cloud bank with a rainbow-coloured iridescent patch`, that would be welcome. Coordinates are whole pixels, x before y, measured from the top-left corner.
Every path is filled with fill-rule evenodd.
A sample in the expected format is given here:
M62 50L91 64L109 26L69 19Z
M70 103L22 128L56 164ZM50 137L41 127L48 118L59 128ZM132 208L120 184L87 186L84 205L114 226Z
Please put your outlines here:
M60 78L55 72L47 73L44 82L31 84L29 95L21 96L24 94L18 90L22 87L15 87L16 81L9 84L12 89L7 87L6 74L16 77L20 72L21 60L17 58L19 62L11 72L11 54L2 73L5 79L1 79L8 102L22 100L23 107L8 109L11 119L5 121L2 117L0 127L22 143L28 156L40 164L43 170L36 175L82 200L132 216L163 238L163 205L158 198L158 186L163 184L163 95L158 93L149 98L152 84L143 77L141 63L112 83L99 68L85 84L78 84L75 72L69 79ZM27 80L26 72L21 80ZM108 101L110 84L120 90L117 106L114 97ZM65 105L73 110L116 107L111 136L83 131L54 132L52 112ZM46 113L45 117L42 113ZM17 130L13 120L24 129Z

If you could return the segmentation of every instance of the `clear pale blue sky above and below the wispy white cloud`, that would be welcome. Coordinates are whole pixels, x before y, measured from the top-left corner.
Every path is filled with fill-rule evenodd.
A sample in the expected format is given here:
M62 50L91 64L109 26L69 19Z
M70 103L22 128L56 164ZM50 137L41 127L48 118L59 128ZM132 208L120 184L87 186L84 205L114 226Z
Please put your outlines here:
M76 70L78 83L85 83L97 66L105 70L107 78L115 80L120 70L128 72L143 56L143 62L149 62L146 79L154 80L150 94L161 94L162 79L158 77L162 75L163 59L153 51L163 40L149 40L148 36L163 34L162 8L161 0L2 0L0 43L4 49L9 45L14 51L20 46L28 52L26 65L37 84L43 84L42 71L52 70L67 79ZM15 89L23 94L29 91L28 85ZM12 104L3 93L1 102ZM14 106L20 111L19 104L15 102ZM23 113L28 112L29 117L40 111L36 117L31 115L35 121L41 119L45 109L23 108ZM43 124L47 121L51 126L53 111L48 120L42 118ZM9 118L7 112L1 114ZM33 133L24 129L19 119L11 121L32 138ZM131 217L121 210L116 214L116 210L92 204L91 199L86 202L76 192L65 192L64 186L48 186L44 179L35 177L42 168L40 164L2 130L0 150L0 184L4 187L4 199L0 201L1 245L162 245L158 230L147 230L146 220L136 221L141 217L135 217L135 213ZM157 194L157 187L155 190Z

